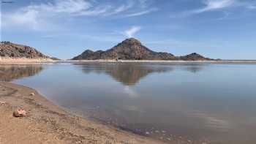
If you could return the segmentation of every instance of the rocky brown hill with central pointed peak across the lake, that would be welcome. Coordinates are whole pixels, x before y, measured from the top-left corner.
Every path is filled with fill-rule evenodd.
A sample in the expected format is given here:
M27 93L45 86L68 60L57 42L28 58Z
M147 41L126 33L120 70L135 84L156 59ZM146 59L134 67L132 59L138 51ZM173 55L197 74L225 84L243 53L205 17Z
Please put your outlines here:
M85 50L72 60L97 60L97 59L122 59L122 60L210 60L197 53L187 56L174 56L171 53L155 52L142 45L138 39L129 38L109 50Z

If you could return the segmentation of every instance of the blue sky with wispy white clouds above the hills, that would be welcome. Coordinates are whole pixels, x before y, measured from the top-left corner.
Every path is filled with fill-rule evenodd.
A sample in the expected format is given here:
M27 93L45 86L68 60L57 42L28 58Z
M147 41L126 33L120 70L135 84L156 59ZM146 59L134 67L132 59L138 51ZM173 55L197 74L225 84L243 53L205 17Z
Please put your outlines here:
M1 0L1 40L49 56L107 50L127 37L176 56L256 59L256 1Z

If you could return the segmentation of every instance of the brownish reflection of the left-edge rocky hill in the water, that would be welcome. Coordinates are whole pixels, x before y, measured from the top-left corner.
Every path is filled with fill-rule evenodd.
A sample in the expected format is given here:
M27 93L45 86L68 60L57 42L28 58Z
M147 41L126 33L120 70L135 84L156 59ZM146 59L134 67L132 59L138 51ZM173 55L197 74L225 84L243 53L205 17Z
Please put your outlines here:
M1 65L0 80L11 81L23 77L30 77L41 72L43 69L41 64L29 65Z

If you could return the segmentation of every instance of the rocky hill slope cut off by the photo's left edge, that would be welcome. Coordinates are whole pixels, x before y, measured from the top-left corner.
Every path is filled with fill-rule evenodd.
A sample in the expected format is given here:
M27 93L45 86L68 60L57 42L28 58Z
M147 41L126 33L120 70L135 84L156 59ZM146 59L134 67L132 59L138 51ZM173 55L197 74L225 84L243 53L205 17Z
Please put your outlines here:
M40 53L35 48L26 45L18 45L12 42L0 43L0 57L8 58L50 58Z

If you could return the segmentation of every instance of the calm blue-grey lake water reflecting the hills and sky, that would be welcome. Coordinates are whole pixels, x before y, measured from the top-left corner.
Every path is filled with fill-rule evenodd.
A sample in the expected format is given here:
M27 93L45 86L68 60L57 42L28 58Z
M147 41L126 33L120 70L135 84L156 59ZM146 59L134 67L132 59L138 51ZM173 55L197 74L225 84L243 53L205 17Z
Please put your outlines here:
M0 80L160 140L256 143L256 64L1 64Z

